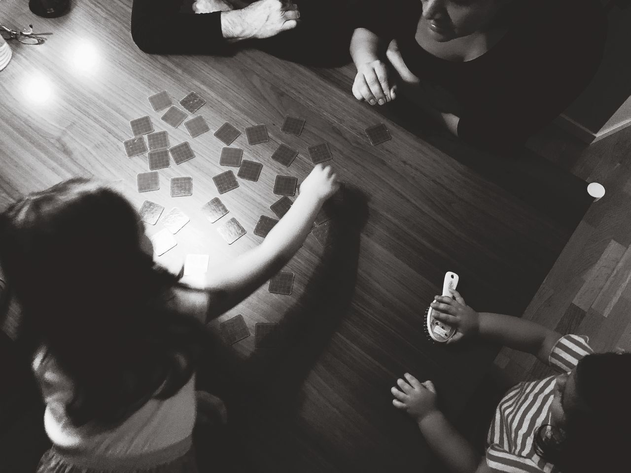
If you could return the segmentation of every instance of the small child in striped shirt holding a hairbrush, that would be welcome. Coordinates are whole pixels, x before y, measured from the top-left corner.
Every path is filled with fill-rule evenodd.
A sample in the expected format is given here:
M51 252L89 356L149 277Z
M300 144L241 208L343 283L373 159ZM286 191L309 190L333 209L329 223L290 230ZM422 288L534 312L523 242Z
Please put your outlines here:
M456 327L448 343L480 337L535 355L561 371L522 382L500 401L480 458L436 405L431 381L406 373L392 404L418 423L433 453L452 472L596 473L628 469L631 353L594 354L587 337L516 317L477 313L452 291L436 296L436 318Z

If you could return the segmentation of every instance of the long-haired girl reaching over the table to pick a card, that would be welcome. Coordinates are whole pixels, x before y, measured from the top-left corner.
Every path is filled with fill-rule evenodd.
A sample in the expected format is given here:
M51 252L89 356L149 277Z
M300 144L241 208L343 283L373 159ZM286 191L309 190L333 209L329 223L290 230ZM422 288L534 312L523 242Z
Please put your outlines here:
M156 266L138 212L74 178L0 214L0 264L21 305L52 448L38 473L191 473L204 322L290 260L338 188L315 166L261 245L193 289Z

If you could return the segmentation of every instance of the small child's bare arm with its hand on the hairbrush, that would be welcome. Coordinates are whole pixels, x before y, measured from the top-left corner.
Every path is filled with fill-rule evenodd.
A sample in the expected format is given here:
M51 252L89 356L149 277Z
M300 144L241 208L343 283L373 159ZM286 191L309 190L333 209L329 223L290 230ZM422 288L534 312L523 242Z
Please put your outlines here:
M531 353L543 363L548 363L552 347L561 334L529 320L498 313L475 312L457 291L452 291L452 295L454 298L436 296L437 302L432 303L432 308L439 311L436 318L458 329L448 343L479 336L486 341Z

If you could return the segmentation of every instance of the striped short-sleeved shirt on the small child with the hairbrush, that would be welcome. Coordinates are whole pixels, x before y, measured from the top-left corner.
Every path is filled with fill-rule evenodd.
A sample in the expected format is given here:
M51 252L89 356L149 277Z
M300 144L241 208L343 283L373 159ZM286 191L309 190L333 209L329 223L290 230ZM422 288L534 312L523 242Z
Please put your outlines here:
M548 364L572 371L587 354L593 353L585 336L561 337L548 356ZM558 473L534 451L534 435L550 423L550 404L555 377L523 382L511 388L500 401L487 437L487 464L493 471L509 473Z

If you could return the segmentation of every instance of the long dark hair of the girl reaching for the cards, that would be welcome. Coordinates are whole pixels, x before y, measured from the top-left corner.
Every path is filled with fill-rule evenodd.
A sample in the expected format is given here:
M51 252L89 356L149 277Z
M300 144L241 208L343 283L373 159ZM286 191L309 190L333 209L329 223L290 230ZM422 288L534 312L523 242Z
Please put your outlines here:
M141 250L138 213L83 178L36 192L0 215L0 266L21 306L18 343L44 346L73 381L75 426L120 424L191 378L203 324L168 301L177 277Z

